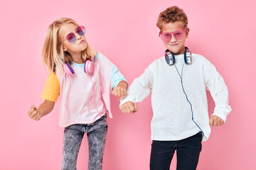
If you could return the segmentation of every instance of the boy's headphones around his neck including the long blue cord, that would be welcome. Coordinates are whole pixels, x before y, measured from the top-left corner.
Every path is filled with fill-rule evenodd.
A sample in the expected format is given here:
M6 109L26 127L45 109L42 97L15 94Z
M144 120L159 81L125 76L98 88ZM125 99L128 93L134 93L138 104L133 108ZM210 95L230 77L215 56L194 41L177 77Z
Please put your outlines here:
M191 56L191 51L188 49L188 47L185 47L186 50L184 51L184 64L191 64L192 63L192 56ZM165 60L166 60L166 63L169 64L169 65L174 65L175 68L176 68L176 71L178 72L178 69L175 65L175 57L174 57L174 53L173 52L170 52L168 49L165 51ZM183 74L183 67L184 67L184 64L182 66L182 69L181 69L181 74L178 72L178 75L179 77L181 78L181 87L182 87L182 90L183 90L183 93L185 94L186 96L186 100L188 101L189 105L191 106L191 114L192 114L192 120L193 120L193 109L192 109L192 104L191 102L188 100L188 96L186 94L186 92L184 91L184 87L183 87L183 82L182 82L182 74ZM196 126L201 130L201 132L199 132L201 135L204 134L203 130L200 128L200 126L195 122L195 120L193 120L193 123L196 124Z

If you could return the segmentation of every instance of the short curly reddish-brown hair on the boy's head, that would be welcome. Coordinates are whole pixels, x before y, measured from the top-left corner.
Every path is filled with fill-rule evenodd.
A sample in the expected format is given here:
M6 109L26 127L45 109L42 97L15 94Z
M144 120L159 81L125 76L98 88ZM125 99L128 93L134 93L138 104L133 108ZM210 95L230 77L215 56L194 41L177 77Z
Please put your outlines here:
M182 8L178 8L178 6L171 6L159 14L156 26L161 30L163 23L176 21L181 21L184 24L183 28L188 26L188 17Z

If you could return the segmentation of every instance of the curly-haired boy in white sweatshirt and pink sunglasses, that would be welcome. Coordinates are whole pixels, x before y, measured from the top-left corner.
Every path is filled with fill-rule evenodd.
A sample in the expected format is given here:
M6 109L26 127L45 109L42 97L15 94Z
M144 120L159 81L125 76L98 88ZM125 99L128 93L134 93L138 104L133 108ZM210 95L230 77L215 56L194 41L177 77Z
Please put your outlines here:
M208 140L210 126L223 125L231 111L228 89L213 64L185 47L188 18L181 8L166 8L156 26L167 48L166 56L134 79L120 109L123 113L136 112L135 103L152 93L150 169L169 169L175 150L177 169L196 169L201 141ZM215 101L210 120L206 89Z

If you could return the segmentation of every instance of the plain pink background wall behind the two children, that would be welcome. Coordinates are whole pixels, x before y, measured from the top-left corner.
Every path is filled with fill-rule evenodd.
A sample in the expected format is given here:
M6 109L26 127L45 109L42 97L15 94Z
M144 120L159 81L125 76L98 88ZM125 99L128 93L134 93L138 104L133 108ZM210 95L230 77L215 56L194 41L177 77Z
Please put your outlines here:
M255 137L255 1L1 1L0 169L60 169L63 128L58 108L36 122L28 118L38 106L47 74L41 63L46 28L68 16L87 28L87 40L106 55L129 84L164 55L156 20L161 11L178 5L191 28L186 45L204 55L222 74L233 111L222 127L212 128L203 142L198 169L256 169ZM209 94L209 93L208 93ZM209 113L214 102L208 97ZM139 111L119 111L108 118L105 170L149 169L151 149L150 97ZM87 169L87 137L82 141L78 169ZM176 157L171 169L176 169Z

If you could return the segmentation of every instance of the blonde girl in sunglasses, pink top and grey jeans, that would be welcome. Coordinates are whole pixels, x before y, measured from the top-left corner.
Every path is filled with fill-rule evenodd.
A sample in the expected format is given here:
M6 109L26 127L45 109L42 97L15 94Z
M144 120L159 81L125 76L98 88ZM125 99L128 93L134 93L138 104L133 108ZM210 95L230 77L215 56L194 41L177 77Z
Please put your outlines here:
M53 110L59 98L59 125L65 128L62 169L76 169L85 132L88 169L102 169L107 113L112 118L110 93L125 96L127 81L107 57L88 45L85 27L70 18L50 24L42 59L49 71L41 96L45 101L38 108L32 105L29 117L40 120Z

